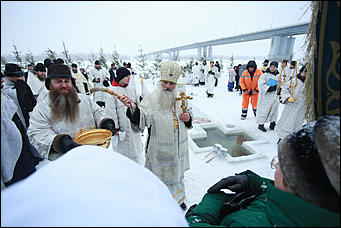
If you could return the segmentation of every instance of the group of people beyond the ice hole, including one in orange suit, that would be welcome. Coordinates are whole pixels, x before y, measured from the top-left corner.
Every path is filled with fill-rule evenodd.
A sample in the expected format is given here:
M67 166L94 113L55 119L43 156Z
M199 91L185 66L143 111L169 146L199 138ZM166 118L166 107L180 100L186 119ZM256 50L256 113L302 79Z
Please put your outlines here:
M207 97L214 96L214 87L221 76L219 62L195 62L189 80L194 86L206 86ZM265 123L274 130L279 140L292 131L298 130L304 124L304 81L306 65L299 70L297 61L283 60L281 66L277 61L265 59L260 69L254 60L247 64L238 64L228 70L227 90L239 91L242 96L241 119L247 118L249 103L251 103L258 129L266 132ZM293 100L294 99L294 100ZM284 104L284 111L278 123L279 104Z

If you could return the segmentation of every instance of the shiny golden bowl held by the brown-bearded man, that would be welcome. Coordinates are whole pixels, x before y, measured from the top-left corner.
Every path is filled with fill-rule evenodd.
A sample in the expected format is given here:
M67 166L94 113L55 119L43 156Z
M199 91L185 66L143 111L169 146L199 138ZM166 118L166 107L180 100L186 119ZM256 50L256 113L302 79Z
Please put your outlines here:
M91 126L91 130L84 131L81 129L80 133L74 132L74 141L81 145L97 145L104 148L108 148L111 141L112 132L107 129L94 129Z

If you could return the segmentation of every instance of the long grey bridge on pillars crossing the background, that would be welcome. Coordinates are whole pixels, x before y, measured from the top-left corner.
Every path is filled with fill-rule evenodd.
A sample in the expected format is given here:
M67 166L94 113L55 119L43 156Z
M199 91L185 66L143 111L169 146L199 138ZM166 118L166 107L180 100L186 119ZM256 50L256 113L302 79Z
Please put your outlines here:
M294 47L295 35L306 34L310 22L305 22L296 25L289 25L279 28L272 28L248 34L240 34L221 39L209 40L204 42L196 42L180 47L168 48L160 51L146 53L146 56L153 56L163 53L168 53L170 58L179 56L179 51L198 49L197 60L204 58L206 60L212 59L212 47L218 45L241 43L255 40L263 40L271 38L271 45L268 58L271 60L282 61L289 59Z

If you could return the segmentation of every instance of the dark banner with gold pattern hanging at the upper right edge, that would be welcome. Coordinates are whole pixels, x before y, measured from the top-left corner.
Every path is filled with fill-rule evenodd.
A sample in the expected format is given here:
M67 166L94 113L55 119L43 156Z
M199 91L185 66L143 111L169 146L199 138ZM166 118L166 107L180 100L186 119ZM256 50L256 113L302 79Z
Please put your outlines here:
M315 118L340 115L340 1L321 2L315 31Z

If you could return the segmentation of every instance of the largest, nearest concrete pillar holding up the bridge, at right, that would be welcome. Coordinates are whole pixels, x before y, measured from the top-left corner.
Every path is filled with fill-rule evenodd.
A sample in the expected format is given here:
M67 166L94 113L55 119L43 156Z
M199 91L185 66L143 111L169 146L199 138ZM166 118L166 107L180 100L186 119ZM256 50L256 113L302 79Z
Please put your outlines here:
M295 38L287 36L275 36L271 38L268 58L270 61L282 62L284 59L290 60L294 48Z

